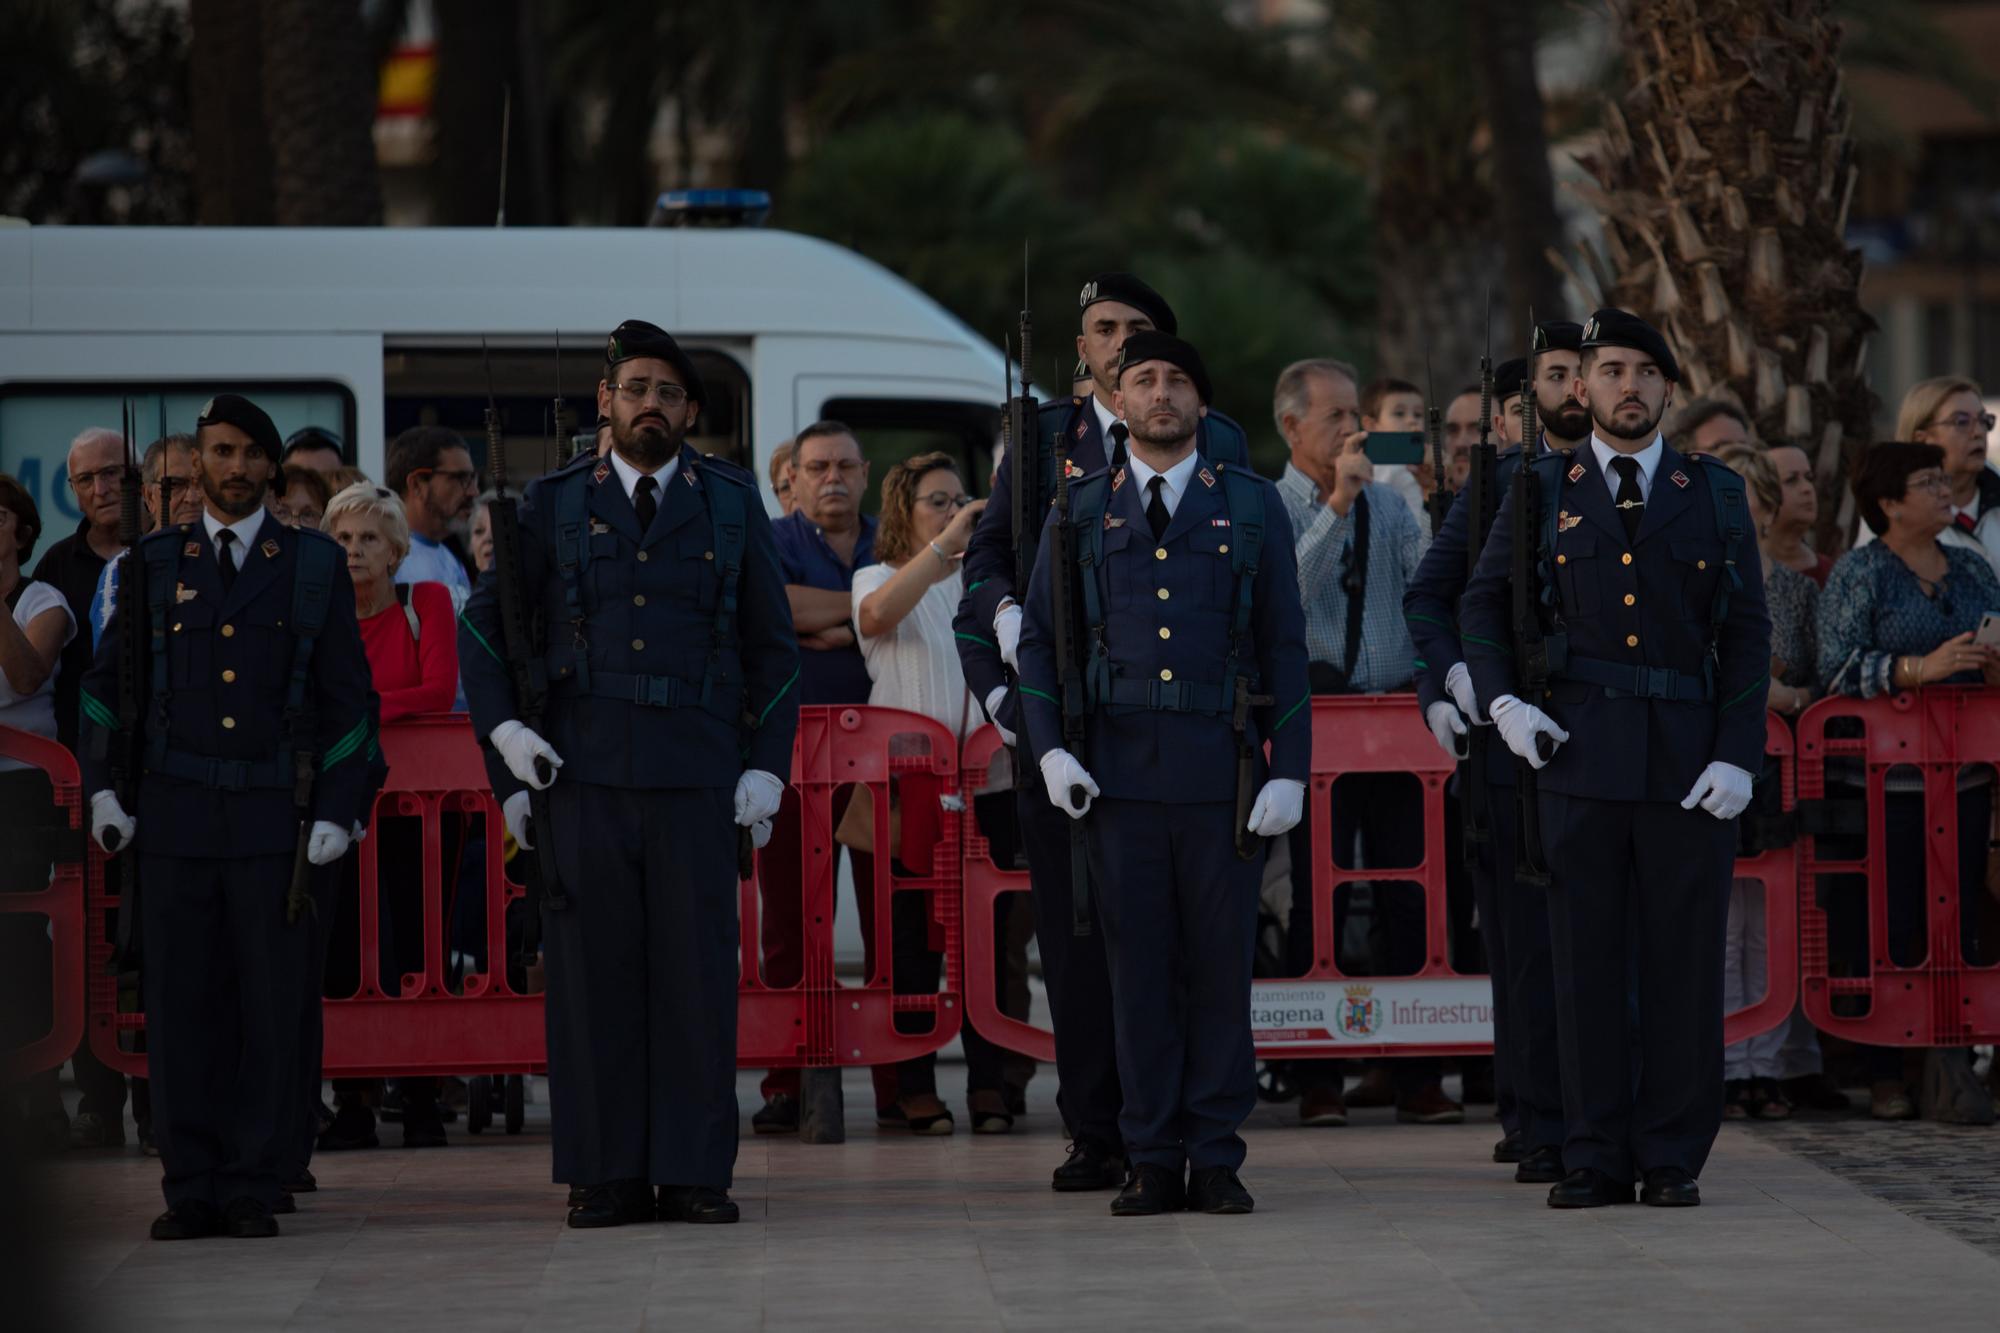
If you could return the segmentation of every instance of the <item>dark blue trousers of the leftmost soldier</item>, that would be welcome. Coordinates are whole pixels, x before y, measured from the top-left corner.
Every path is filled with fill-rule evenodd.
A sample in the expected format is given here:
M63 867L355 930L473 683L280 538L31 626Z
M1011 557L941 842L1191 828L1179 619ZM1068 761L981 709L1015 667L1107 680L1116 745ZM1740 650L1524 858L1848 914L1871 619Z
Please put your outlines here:
M272 1207L298 1159L298 1041L322 947L284 921L292 857L144 857L140 877L166 1203Z

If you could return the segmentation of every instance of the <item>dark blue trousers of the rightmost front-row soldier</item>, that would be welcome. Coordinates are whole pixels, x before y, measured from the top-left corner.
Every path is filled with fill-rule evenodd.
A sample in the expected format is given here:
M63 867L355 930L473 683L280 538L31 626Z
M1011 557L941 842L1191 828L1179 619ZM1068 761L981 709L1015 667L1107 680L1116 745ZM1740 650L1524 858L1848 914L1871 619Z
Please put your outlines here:
M1554 877L1562 1165L1614 1181L1658 1167L1700 1175L1722 1129L1736 821L1554 793L1542 793L1540 811Z

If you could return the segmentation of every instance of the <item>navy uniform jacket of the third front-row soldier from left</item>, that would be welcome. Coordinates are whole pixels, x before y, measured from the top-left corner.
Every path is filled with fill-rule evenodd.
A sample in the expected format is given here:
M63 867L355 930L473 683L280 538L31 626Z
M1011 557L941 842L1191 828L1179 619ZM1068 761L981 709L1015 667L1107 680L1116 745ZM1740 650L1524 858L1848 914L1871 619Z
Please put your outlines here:
M1200 458L1160 542L1152 540L1138 486L1112 476L1104 510L1104 642L1114 681L1184 683L1228 691L1230 570L1228 504L1214 466ZM1254 691L1274 703L1252 709L1250 745L1270 741L1270 777L1304 783L1312 765L1312 711L1306 683L1306 616L1298 604L1292 524L1278 488L1264 478L1264 544L1252 592L1250 652ZM1042 528L1038 562L1050 558L1056 516ZM1046 564L1038 564L1046 568ZM1078 598L1082 614L1082 598ZM1036 578L1020 638L1022 711L1040 761L1062 747L1056 644L1046 578ZM1236 733L1230 715L1092 707L1082 761L1102 795L1118 801L1204 803L1236 795Z

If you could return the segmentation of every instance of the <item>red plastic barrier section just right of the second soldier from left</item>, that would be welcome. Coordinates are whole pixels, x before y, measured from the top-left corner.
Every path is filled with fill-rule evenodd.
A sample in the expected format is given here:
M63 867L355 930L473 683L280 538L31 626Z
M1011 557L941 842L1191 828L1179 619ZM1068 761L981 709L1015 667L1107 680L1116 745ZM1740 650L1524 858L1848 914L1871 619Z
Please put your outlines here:
M874 883L856 885L872 899L874 973L858 987L834 977L834 805L842 789L874 797ZM902 799L902 837L890 839L890 789ZM792 749L792 787L800 795L804 885L804 975L794 987L758 975L760 899L742 887L742 981L736 1059L740 1065L828 1067L888 1065L928 1055L958 1035L960 965L960 815L936 797L958 791L958 743L950 731L900 709L814 705L800 709ZM930 821L932 811L936 821ZM882 855L894 849L894 857ZM900 861L900 869L892 865ZM942 989L892 993L890 903L896 893L924 893L944 949ZM898 1033L898 1013L928 1013L928 1033Z

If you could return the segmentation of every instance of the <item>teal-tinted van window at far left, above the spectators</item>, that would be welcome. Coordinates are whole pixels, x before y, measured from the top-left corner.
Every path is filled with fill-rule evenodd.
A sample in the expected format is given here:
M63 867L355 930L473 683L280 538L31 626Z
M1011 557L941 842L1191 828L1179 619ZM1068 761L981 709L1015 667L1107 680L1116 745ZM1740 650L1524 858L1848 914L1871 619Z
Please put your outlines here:
M206 384L0 384L0 472L14 476L42 510L50 538L82 522L68 484L70 440L90 426L118 428L120 402L138 410L134 454L162 434L192 432L202 404L236 392L270 412L278 434L322 426L354 460L354 394L344 384L300 380L214 380ZM120 394L124 398L120 400Z

